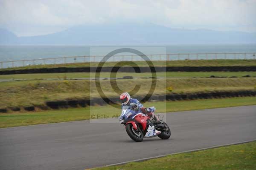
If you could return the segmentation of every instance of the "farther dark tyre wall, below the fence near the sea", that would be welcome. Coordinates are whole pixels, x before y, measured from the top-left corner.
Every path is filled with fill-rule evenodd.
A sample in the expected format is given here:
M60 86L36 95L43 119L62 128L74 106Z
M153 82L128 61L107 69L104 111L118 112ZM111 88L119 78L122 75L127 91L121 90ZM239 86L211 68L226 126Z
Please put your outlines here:
M59 67L41 69L1 70L0 75L61 73L61 72L96 72L97 67ZM155 67L156 72L239 72L256 71L256 66L177 66ZM101 72L151 72L150 67L102 67Z

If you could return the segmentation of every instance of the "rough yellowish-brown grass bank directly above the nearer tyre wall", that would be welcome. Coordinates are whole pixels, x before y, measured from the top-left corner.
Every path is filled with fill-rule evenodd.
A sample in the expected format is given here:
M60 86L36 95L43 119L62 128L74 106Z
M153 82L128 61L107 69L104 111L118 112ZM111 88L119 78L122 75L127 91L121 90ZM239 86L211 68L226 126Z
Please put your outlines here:
M113 82L113 81L112 81ZM145 95L151 87L151 79L118 80L122 91L131 91L140 84L136 95ZM102 90L108 97L118 97L109 80L101 81ZM166 87L172 86L172 92L216 92L253 90L256 78L168 78L157 79L154 95L169 93ZM120 92L121 93L121 92ZM99 98L94 81L14 81L0 83L0 108L14 106L44 105L45 101ZM131 94L133 95L133 94Z

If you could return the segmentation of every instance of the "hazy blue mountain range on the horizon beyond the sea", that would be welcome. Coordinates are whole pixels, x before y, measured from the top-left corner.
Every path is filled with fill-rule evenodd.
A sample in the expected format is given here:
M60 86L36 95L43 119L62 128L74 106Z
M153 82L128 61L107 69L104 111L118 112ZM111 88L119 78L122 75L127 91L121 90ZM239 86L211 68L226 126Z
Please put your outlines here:
M164 45L256 43L256 33L172 29L155 24L81 25L49 35L17 37L0 29L0 44L13 45Z

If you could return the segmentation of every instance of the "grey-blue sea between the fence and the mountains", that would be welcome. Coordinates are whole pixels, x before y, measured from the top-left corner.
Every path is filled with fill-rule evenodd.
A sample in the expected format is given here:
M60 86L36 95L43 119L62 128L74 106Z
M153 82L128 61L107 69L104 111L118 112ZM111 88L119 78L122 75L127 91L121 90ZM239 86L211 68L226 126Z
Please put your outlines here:
M245 56L247 59L253 59L256 55L256 44L216 44L216 45L166 45L166 46L0 46L0 62L2 61L20 61L20 60L36 60L43 58L59 58L59 57L73 57L73 56L105 56L114 50L116 55L136 55L137 51L142 52L145 55L157 55L157 54L188 54L193 53L199 55L171 55L170 60L185 60L189 59L206 59L206 55L200 55L201 53L255 53ZM129 51L129 49L136 49L136 52ZM198 57L199 56L199 57ZM163 56L153 56L154 60L166 59ZM218 59L226 57L232 59L234 56L224 55L208 55L207 59ZM103 58L103 57L102 57ZM87 58L87 61L101 61L102 58ZM244 55L236 55L236 59L243 59ZM121 59L120 59L121 60ZM131 60L126 58L125 60ZM135 60L138 60L138 58ZM85 61L85 60L82 60ZM112 61L114 61L112 59ZM47 61L51 63L53 61ZM63 63L64 61L55 61ZM65 62L79 62L76 59L70 59ZM24 64L24 62L23 62ZM30 65L32 63L25 63ZM41 63L38 63L41 64ZM4 67L12 67L10 64L4 64ZM13 65L13 63L12 63ZM15 66L21 66L21 63L16 63Z

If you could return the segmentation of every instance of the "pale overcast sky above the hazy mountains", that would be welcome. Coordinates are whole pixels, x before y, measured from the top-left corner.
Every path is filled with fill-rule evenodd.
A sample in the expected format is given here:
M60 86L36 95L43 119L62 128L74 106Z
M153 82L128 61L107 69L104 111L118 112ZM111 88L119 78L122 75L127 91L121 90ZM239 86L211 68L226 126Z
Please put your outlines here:
M256 32L255 18L256 0L0 0L0 27L18 36L119 22Z

